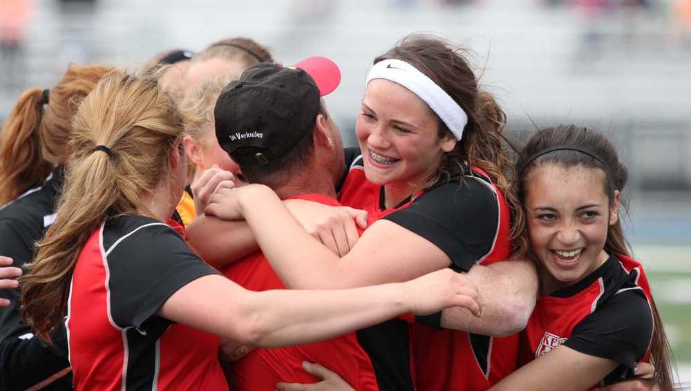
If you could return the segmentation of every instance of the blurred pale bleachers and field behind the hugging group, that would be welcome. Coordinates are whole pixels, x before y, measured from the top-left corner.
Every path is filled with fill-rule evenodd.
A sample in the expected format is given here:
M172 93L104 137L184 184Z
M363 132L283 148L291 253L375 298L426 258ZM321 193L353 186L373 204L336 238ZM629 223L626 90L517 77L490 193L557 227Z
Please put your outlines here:
M691 0L0 0L0 120L70 62L141 64L247 36L291 64L341 66L328 106L354 144L372 59L410 32L471 50L520 140L534 126L605 131L630 169L627 235L691 382Z

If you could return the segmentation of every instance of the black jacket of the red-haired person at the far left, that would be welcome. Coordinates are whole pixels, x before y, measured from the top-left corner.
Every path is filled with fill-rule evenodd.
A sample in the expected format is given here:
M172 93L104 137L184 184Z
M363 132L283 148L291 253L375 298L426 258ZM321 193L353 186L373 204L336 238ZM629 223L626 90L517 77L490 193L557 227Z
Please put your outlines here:
M34 256L35 242L44 237L55 220L55 200L62 187L63 171L53 170L41 187L30 189L0 207L0 255L23 267ZM34 338L21 321L21 289L0 289L10 306L0 308L0 390L25 390L69 368L64 325L50 332L53 345ZM44 390L71 390L71 375L50 383Z

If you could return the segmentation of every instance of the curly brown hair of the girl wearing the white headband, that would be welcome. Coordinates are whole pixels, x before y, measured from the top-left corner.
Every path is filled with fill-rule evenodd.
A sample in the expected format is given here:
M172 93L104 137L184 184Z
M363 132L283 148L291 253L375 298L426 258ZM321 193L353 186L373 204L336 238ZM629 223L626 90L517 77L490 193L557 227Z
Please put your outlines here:
M429 35L413 34L402 39L397 46L375 59L375 64L385 59L406 61L441 87L468 115L463 137L450 153L444 155L442 164L435 171L426 187L444 178L454 166L467 164L485 171L506 198L512 227L522 225L523 209L520 207L514 186L514 167L507 140L502 135L507 117L494 97L480 89L475 73L468 64L462 49L454 49L443 39ZM439 138L451 134L446 124L437 117ZM512 238L519 232L511 229Z

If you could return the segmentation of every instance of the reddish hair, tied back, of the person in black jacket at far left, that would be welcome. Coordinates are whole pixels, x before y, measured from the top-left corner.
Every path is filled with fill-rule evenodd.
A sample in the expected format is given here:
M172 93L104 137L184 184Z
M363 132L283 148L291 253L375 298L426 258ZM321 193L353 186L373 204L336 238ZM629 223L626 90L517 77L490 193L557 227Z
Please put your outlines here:
M72 65L47 92L47 104L39 88L19 97L0 135L0 205L37 187L54 165L64 164L79 100L112 69Z

